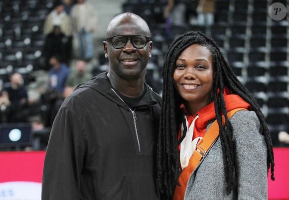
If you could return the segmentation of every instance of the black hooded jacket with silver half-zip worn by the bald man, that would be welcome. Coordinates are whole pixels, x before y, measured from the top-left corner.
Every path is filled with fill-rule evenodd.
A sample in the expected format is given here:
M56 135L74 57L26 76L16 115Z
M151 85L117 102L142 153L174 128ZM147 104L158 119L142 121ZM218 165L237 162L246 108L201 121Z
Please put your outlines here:
M65 99L48 142L42 200L157 200L160 97L130 109L102 73Z

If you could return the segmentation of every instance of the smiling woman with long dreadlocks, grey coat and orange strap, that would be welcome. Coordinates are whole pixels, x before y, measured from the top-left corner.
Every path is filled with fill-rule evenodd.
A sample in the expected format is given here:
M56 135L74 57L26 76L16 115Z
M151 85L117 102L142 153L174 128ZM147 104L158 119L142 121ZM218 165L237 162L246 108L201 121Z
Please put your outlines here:
M274 157L257 101L216 43L187 32L164 61L157 143L162 199L267 199Z

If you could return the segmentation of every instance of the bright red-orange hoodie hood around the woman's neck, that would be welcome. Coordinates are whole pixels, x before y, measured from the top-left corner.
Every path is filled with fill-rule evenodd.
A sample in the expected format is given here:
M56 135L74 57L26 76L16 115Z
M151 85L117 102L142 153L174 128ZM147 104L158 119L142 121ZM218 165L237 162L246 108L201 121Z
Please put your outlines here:
M251 105L249 103L247 103L238 95L233 95L232 92L227 88L224 89L224 100L228 112L235 108L246 108L248 110L251 109ZM180 105L180 108L183 110L184 114L187 115L189 126L191 125L195 116L197 114L199 115L199 118L196 119L195 121L193 139L196 137L203 137L206 132L208 121L216 117L214 102L211 102L210 104L206 105L198 112L196 112L194 115L191 115L187 112L186 107L183 103ZM179 130L178 133L178 139L180 139L180 136L181 136L181 129Z

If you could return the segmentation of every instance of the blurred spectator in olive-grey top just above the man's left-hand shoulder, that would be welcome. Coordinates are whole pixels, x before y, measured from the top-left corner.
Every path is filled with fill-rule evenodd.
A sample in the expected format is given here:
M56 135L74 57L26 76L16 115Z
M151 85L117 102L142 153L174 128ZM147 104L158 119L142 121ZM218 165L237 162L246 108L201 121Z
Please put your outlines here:
M66 86L75 87L80 83L89 81L92 77L92 74L86 69L86 62L78 60L76 61L75 70L67 77Z

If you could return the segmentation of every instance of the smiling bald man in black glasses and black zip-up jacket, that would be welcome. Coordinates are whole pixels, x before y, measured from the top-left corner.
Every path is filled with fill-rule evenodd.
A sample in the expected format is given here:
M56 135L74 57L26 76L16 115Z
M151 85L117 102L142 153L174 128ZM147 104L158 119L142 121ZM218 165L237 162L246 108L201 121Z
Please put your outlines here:
M155 142L160 97L144 82L149 28L123 13L103 42L108 72L79 86L54 120L42 200L157 200Z

